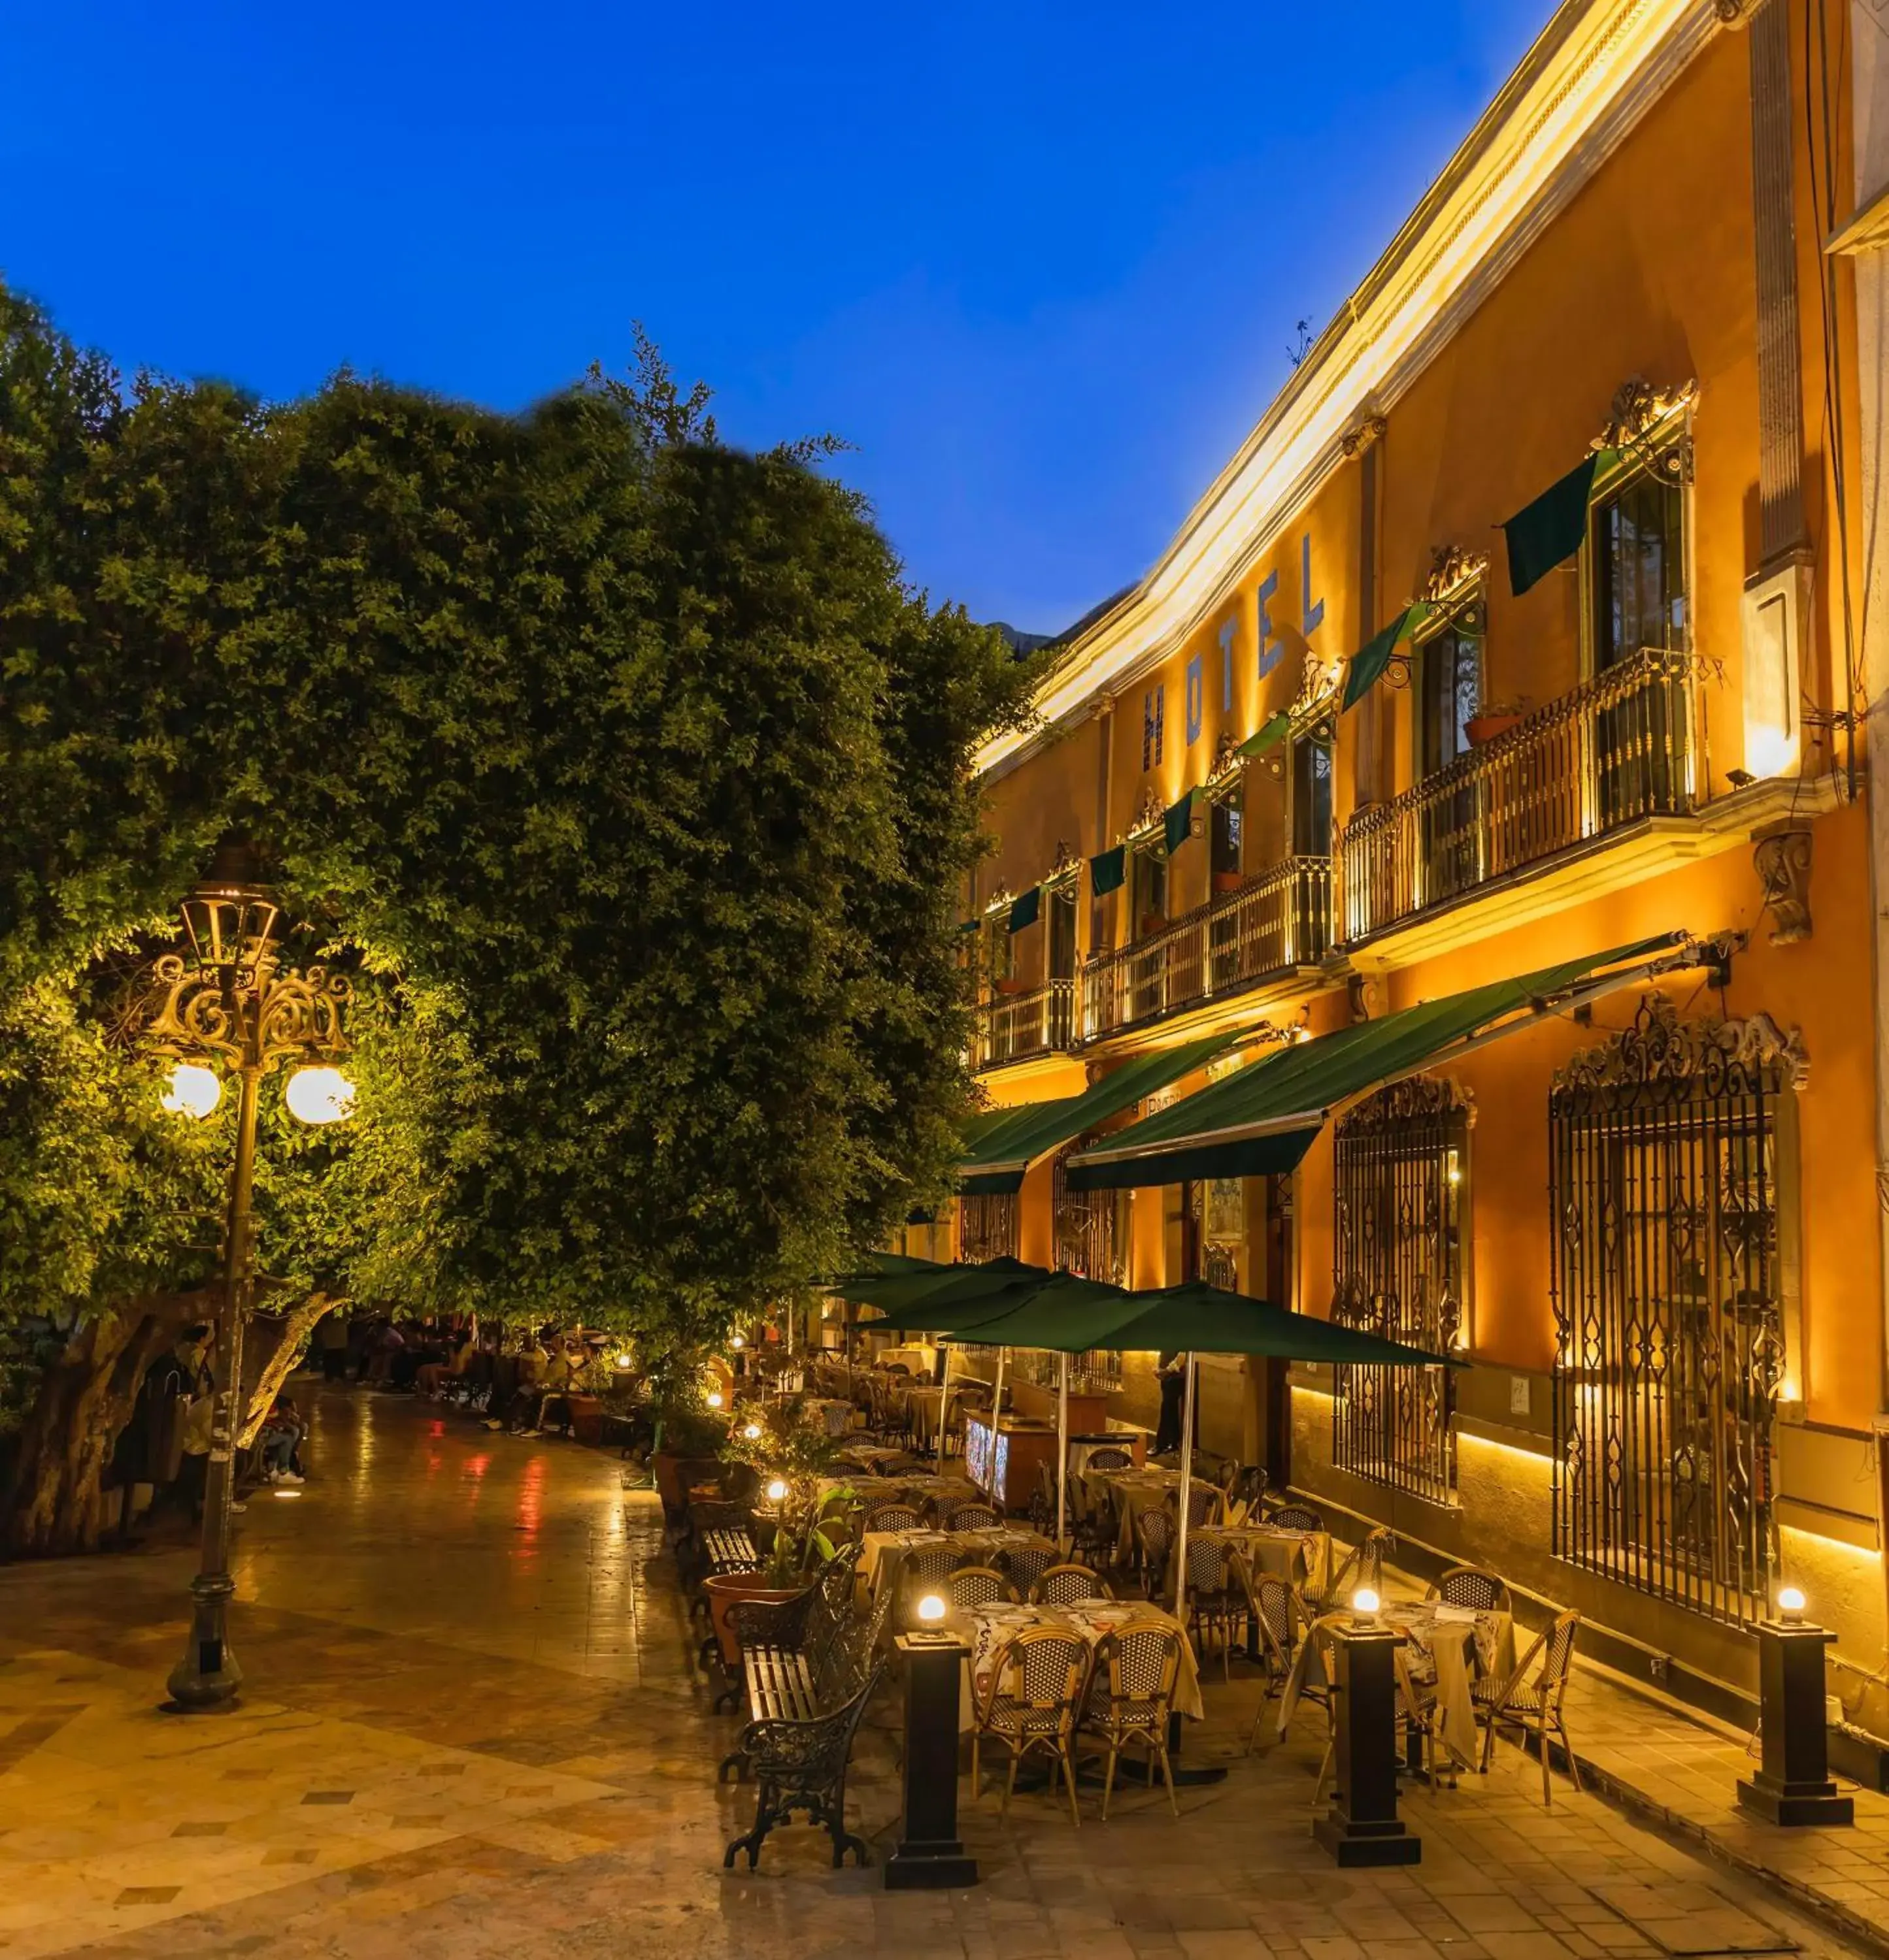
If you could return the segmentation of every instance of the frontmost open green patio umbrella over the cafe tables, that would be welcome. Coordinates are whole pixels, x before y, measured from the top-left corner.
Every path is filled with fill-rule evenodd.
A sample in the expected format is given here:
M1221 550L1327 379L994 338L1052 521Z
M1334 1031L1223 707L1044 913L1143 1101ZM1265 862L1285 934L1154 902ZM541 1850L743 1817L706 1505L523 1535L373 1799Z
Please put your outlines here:
M1465 1368L1455 1354L1385 1341L1383 1335L1293 1313L1269 1299L1248 1299L1195 1282L1153 1292L1030 1292L1010 1311L967 1323L953 1339L971 1347L1034 1347L1061 1354L1089 1348L1183 1354L1271 1354L1277 1360L1324 1360L1352 1366Z

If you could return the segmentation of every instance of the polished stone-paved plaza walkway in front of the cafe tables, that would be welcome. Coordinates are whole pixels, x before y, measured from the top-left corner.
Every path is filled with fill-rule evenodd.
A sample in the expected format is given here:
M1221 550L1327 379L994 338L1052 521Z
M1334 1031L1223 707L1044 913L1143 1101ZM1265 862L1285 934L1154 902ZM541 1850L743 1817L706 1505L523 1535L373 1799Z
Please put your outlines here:
M824 1838L722 1872L751 1795L716 1789L708 1715L655 1501L612 1458L494 1437L428 1405L316 1397L312 1480L241 1521L237 1713L155 1711L182 1641L182 1554L0 1572L0 1960L812 1960L896 1952L1548 1960L1854 1950L1512 1748L1406 1803L1424 1862L1340 1874L1310 1842L1322 1750L1248 1758L1257 1688L1206 1670L1177 1825L1130 1786L1081 1831L1047 1797L967 1837L985 1884L889 1895ZM885 1723L855 1819L896 1827Z

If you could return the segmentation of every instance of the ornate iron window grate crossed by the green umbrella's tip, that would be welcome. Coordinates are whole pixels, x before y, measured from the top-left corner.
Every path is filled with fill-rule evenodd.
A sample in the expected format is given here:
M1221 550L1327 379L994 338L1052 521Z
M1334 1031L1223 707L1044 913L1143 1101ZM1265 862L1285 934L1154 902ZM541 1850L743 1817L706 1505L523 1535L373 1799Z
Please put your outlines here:
M1463 1323L1471 1109L1454 1082L1412 1076L1334 1135L1332 1317L1444 1354ZM1448 1368L1334 1368L1332 1462L1432 1503L1454 1501Z

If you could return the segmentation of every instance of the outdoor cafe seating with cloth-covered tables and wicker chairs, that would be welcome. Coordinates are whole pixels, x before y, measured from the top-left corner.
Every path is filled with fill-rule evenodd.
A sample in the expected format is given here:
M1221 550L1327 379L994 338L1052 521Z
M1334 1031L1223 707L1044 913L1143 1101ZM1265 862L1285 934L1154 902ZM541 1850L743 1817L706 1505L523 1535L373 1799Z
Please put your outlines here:
M1499 1737L1540 1754L1544 1803L1556 1776L1577 1776L1563 1721L1575 1613L1528 1599L1518 1629L1501 1574L1420 1578L1399 1566L1387 1531L1328 1521L1301 1494L1269 1490L1261 1470L1199 1450L1140 1464L1126 1448L1091 1450L1079 1468L1065 1462L1053 1501L1040 1490L1004 1511L961 1458L938 1452L936 1425L932 1450L918 1448L904 1407L869 1370L849 1388L738 1388L736 1425L775 1397L777 1423L785 1403L824 1435L832 1460L802 1488L702 1458L663 1490L702 1662L738 1719L722 1774L751 1780L757 1797L730 1864L741 1850L755 1862L796 1817L828 1829L836 1866L849 1848L863 1858L845 1821L849 1756L875 1701L873 1725L896 1733L894 1642L918 1629L963 1642L961 1799L1004 1817L1028 1801L1053 1805L1069 1829L1118 1829L1126 1793L1128 1815L1179 1817L1189 1731L1216 1695L1255 1688L1244 1750L1220 1768L1265 1776L1273 1746L1310 1725L1324 1742L1316 1813L1336 1752L1334 1642L1365 1621L1399 1637L1401 1778L1446 1801L1489 1766ZM926 1392L936 1409L936 1384L912 1396ZM777 1533L792 1529L806 1533L808 1564L789 1586L763 1586Z

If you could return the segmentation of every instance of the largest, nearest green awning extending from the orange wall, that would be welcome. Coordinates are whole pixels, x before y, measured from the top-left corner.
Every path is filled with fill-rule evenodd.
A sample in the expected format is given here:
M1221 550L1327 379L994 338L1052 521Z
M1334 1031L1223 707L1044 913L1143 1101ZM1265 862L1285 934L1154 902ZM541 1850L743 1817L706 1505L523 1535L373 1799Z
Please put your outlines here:
M1067 1166L1069 1188L1106 1192L1297 1170L1326 1115L1348 1098L1644 978L1648 964L1665 970L1707 956L1687 933L1663 933L1297 1043L1079 1152ZM1597 978L1620 966L1632 970Z

